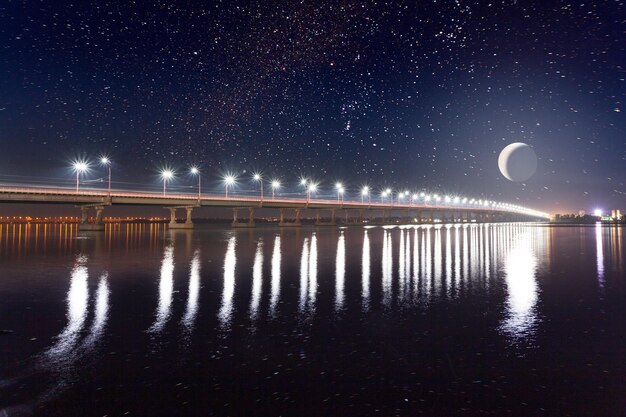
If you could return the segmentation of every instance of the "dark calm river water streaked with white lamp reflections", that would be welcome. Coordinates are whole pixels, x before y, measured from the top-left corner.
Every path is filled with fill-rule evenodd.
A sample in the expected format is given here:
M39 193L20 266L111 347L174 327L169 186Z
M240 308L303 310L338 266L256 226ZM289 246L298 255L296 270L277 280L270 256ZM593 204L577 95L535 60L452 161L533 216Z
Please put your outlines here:
M0 416L623 416L625 243L0 225Z

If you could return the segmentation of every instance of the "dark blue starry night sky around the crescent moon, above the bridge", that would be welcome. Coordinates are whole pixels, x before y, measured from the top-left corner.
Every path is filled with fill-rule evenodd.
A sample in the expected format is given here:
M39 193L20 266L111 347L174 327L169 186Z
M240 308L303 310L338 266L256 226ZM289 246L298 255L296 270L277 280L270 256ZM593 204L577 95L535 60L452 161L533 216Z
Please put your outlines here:
M625 6L5 0L0 181L71 185L72 159L105 153L120 188L197 164L207 190L262 171L285 192L624 209ZM513 183L497 158L520 141L539 167Z

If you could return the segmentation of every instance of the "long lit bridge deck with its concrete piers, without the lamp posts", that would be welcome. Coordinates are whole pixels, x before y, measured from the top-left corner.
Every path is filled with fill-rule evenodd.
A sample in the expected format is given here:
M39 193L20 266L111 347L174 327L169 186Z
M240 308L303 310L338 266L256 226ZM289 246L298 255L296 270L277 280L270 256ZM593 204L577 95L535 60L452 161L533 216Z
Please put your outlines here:
M318 226L336 225L338 211L345 223L428 223L428 222L498 222L537 221L549 218L548 213L511 204L488 200L437 199L438 201L371 202L340 199L263 198L249 196L217 196L208 194L151 193L135 191L103 191L96 189L73 190L45 187L0 187L0 203L73 204L82 211L82 230L104 230L102 214L107 206L160 206L171 213L170 228L193 228L192 212L199 207L228 208L233 212L233 227L254 227L257 209L277 211L279 225L301 226L304 210L315 214ZM179 223L176 211L186 211L186 218ZM90 218L90 211L95 216ZM239 220L239 211L247 211L246 220ZM312 217L312 216L309 216Z

